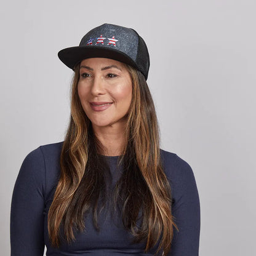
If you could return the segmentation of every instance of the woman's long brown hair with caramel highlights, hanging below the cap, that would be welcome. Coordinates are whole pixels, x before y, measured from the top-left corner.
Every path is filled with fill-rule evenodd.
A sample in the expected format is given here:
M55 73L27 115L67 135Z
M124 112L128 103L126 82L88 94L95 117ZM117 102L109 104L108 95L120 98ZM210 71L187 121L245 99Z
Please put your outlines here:
M126 141L119 163L124 171L114 187L113 199L121 210L124 227L134 242L146 241L145 252L159 242L156 254L167 254L173 238L171 190L164 174L159 128L153 99L140 71L127 65L132 79L132 102L127 114ZM107 162L99 152L103 145L94 135L92 124L78 96L79 65L74 70L71 88L71 116L60 155L60 178L48 214L52 245L60 245L60 228L66 241L75 239L74 230L86 228L84 216L93 210L97 216L105 206ZM122 188L122 189L121 189ZM103 202L98 207L98 201ZM139 216L140 215L140 216ZM142 220L137 226L138 218Z

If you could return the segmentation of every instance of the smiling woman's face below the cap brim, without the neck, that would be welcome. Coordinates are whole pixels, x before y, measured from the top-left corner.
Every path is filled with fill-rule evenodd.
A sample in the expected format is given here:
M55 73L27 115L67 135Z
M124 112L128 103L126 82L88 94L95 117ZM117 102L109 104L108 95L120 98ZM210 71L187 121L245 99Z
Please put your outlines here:
M110 58L87 58L80 64L78 95L94 129L123 125L132 100L126 66Z

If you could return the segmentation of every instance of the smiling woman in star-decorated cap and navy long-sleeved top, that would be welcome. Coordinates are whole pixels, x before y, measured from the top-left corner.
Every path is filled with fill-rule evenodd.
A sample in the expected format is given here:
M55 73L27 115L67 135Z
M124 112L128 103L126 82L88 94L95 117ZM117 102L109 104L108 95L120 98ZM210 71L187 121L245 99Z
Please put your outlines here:
M64 142L23 161L10 216L11 254L198 255L191 167L159 149L136 31L103 24L58 57L74 70Z

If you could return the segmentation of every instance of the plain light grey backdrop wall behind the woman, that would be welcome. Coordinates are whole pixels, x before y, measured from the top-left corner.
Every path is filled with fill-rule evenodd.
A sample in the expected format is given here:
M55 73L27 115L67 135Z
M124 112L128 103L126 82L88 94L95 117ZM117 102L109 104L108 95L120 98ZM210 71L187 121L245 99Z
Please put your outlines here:
M1 255L10 254L12 190L25 156L63 140L73 71L60 49L103 23L134 28L162 148L194 171L200 255L255 251L255 1L5 1L1 26ZM183 255L181 255L183 256Z

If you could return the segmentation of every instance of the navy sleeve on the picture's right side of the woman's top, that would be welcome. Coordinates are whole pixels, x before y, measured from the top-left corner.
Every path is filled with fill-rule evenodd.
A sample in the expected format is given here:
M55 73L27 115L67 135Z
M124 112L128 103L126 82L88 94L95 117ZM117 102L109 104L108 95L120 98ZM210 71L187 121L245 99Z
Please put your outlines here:
M178 226L168 256L198 256L200 204L198 188L190 165L176 155L173 175L174 202L172 215ZM175 177L174 177L175 176Z

